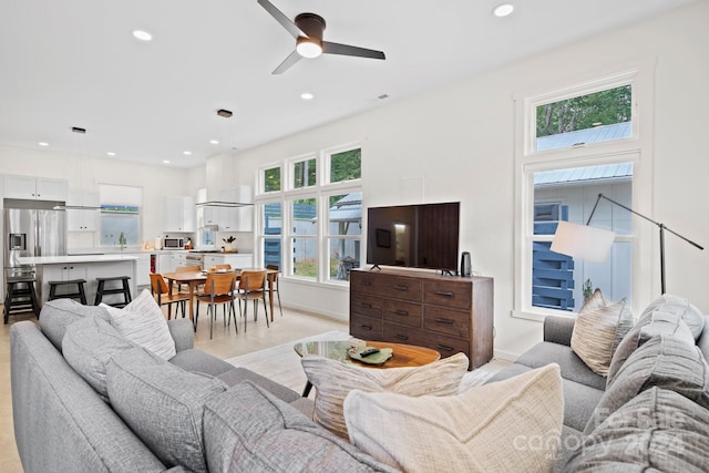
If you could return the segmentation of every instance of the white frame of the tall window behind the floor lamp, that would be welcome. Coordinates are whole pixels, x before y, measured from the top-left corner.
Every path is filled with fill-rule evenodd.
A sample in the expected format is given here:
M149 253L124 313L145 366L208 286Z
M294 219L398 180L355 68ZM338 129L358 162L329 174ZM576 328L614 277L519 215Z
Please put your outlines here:
M569 81L571 83L571 81ZM571 148L536 151L536 107L573 96L598 92L629 83L633 88L633 133L630 137L593 143ZM532 239L534 235L534 173L556 168L571 168L631 162L633 208L651 214L653 176L653 90L654 68L650 63L638 63L620 72L609 71L572 85L565 84L540 94L515 95L515 255L514 255L514 307L511 316L543 321L548 315L575 317L576 312L532 306ZM655 260L651 250L656 247L653 228L638 224L633 216L630 235L616 236L616 241L633 244L633 305L637 312L643 301L651 297L655 279ZM551 238L549 238L551 239ZM579 307L578 305L577 307Z

